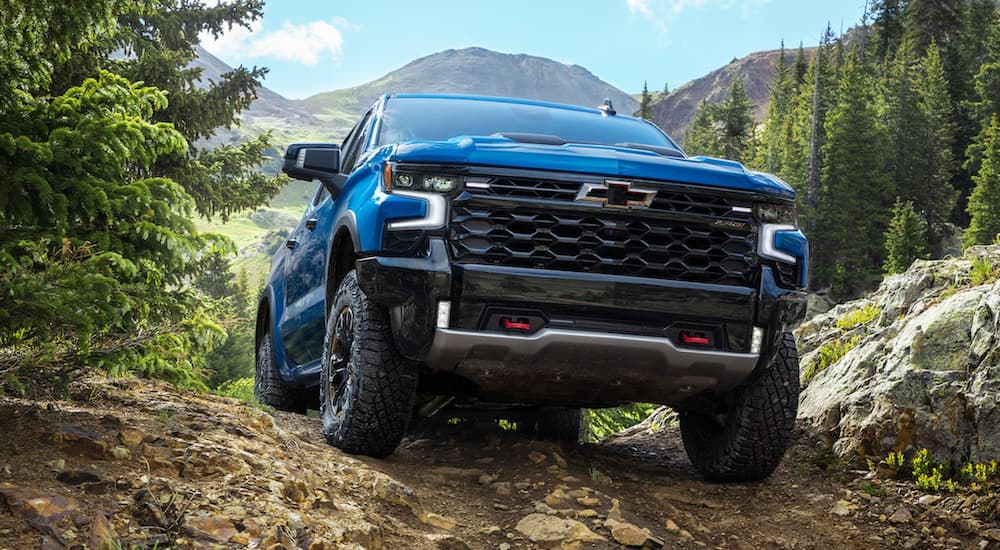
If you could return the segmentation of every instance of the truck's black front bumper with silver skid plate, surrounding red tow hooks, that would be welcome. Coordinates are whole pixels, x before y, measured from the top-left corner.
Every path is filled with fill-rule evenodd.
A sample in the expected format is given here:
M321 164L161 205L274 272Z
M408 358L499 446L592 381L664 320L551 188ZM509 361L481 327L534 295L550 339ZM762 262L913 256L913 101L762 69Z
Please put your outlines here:
M396 345L435 372L472 382L491 401L613 405L677 403L738 386L805 294L778 286L769 267L756 288L496 266L452 265L440 238L422 258L359 260L359 284L390 307ZM438 303L451 304L438 326ZM537 311L530 334L484 320L491 308ZM676 341L675 326L714 327L712 349ZM765 345L752 352L754 327Z

